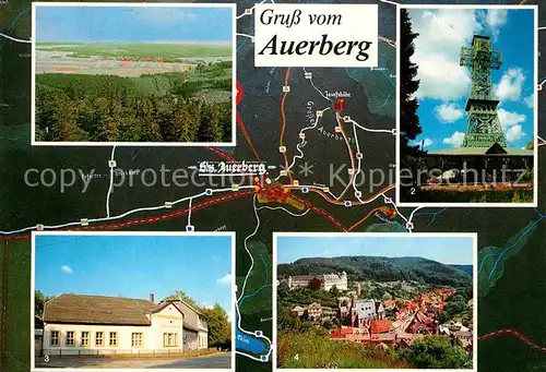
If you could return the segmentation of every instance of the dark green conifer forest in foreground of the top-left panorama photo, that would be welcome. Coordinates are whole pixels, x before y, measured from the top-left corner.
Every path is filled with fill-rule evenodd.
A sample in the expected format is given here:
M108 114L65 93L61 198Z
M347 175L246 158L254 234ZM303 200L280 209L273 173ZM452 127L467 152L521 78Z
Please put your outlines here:
M230 142L232 79L38 74L35 123L39 142Z

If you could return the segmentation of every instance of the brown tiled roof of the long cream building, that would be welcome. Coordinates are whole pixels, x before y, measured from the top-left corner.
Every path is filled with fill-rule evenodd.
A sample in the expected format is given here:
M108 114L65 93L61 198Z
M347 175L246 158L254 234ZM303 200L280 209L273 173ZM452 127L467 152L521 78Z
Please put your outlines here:
M146 314L161 311L167 304L121 297L61 295L46 302L44 322L151 325Z

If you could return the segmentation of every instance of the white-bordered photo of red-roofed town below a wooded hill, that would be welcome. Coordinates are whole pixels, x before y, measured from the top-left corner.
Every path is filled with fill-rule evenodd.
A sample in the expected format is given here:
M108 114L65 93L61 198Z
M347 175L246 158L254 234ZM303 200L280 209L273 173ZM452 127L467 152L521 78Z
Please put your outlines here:
M475 233L276 233L276 369L477 371Z

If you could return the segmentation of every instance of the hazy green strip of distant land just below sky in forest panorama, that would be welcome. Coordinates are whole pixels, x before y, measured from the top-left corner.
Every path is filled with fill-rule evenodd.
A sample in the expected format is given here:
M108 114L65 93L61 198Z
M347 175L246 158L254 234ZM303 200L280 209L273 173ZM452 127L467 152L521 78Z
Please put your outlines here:
M98 57L144 59L164 57L171 60L232 57L230 44L124 44L124 43L36 43L36 49L72 52L69 57Z

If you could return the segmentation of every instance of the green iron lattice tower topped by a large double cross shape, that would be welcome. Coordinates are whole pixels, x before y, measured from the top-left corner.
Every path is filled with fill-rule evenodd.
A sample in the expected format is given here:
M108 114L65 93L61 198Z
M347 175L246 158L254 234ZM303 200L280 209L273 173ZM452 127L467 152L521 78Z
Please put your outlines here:
M490 147L495 143L507 147L497 111L500 101L494 97L491 84L491 70L498 70L501 63L502 56L492 50L488 36L474 35L472 46L461 48L460 65L470 68L472 73L462 147Z

